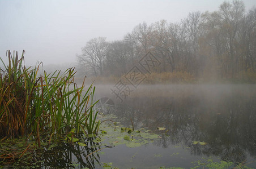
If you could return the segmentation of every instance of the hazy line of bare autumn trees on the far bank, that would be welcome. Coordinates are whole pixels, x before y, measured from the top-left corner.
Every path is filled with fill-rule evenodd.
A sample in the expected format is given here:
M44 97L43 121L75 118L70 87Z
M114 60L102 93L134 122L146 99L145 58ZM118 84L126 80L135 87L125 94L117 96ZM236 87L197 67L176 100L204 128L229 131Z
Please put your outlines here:
M180 23L140 23L121 41L93 38L77 56L78 70L121 77L148 51L161 62L157 73L216 79L255 76L256 8L245 11L242 1L223 2L218 11L191 12Z

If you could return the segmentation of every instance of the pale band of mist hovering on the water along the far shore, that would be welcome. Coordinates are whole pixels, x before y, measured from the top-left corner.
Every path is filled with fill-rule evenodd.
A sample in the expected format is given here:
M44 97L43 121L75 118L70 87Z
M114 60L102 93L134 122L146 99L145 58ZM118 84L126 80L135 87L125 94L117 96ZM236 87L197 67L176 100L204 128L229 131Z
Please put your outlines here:
M115 84L96 84L96 96L110 97L118 104L121 101L112 94L110 90ZM221 99L225 95L238 92L241 95L255 96L255 84L141 84L133 90L127 100L134 97L181 97L181 96L202 96L214 99ZM126 103L126 99L124 101Z

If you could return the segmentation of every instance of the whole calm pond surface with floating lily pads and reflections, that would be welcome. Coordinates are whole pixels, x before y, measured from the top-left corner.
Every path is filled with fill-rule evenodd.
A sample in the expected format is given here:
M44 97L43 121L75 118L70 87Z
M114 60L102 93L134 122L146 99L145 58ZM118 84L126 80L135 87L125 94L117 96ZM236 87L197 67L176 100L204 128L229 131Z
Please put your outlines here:
M16 168L256 168L256 85L140 85L123 101L112 87L96 86L99 118L140 133L115 131L106 121L100 131L108 134L100 132L100 140L80 137L87 146L46 143ZM153 139L129 146L144 130Z

